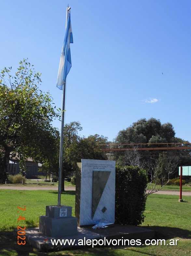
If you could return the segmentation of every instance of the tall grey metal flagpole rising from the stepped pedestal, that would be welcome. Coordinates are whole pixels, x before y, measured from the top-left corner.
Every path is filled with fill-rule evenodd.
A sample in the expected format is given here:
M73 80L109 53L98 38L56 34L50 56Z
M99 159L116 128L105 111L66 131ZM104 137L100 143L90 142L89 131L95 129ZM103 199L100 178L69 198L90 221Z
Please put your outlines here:
M66 26L68 20L68 7L66 10ZM66 81L62 87L62 112L61 112L61 136L60 136L60 157L59 157L59 183L58 183L58 206L61 206L61 194L62 194L62 162L63 162L63 131L64 131L64 110L65 110L65 98L66 98Z

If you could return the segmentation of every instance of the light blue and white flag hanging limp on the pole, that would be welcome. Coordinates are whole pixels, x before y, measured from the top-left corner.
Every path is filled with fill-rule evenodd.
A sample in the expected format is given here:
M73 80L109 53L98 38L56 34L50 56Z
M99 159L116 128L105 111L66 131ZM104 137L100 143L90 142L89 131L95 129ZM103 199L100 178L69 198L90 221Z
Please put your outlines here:
M70 43L73 43L72 26L70 20L70 12L68 15L64 43L61 52L60 65L58 70L57 86L62 90L63 84L66 82L66 77L72 67Z

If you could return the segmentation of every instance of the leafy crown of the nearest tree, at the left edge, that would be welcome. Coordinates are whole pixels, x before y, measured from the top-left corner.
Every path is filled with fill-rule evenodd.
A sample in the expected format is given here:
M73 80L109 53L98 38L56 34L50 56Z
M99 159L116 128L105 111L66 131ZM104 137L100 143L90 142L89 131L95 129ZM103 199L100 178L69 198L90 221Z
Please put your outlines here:
M35 160L48 159L52 154L57 130L51 122L59 118L52 107L50 94L43 93L39 72L35 72L28 60L20 61L14 76L11 69L0 73L0 172L1 181L7 178L9 158L27 157Z

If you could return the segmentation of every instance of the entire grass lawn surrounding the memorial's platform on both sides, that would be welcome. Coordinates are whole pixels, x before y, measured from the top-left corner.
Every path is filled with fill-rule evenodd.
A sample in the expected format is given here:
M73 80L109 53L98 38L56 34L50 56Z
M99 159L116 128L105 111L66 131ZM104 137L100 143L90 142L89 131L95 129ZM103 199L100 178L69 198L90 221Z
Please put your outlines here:
M179 239L177 246L126 246L100 247L60 252L38 252L29 245L19 246L12 230L18 226L19 215L26 218L20 220L20 227L37 227L39 215L45 215L46 205L56 205L57 191L20 191L0 190L0 255L1 256L191 256L191 196L184 196L184 203L178 202L179 196L148 196L143 227L155 230L155 239ZM61 204L75 206L75 191L67 191L61 196ZM19 210L17 207L24 208ZM18 210L20 211L18 213ZM168 243L168 242L167 242Z

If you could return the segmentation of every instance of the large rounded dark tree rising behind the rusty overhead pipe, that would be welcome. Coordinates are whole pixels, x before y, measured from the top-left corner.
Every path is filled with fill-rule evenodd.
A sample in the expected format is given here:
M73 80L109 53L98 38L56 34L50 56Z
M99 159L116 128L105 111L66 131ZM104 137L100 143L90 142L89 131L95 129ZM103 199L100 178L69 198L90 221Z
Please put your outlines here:
M157 147L162 147L161 143L186 143L188 141L184 141L180 138L175 137L175 131L171 123L165 123L161 125L160 120L155 118L150 118L146 120L142 118L137 122L134 122L130 127L121 130L118 132L115 143L116 144L145 144L142 147L148 147L149 144L159 144ZM147 144L147 145L146 145ZM151 147L153 145L150 145ZM169 145L170 148L171 144ZM128 147L126 145L118 145L118 147ZM179 158L184 160L188 160L190 158L189 152L185 150L177 150L173 151L174 154L179 155ZM151 151L139 151L141 157L147 162L149 159L153 158L155 155L155 159L158 159L158 152ZM126 159L123 156L116 156L116 161L118 164L125 162ZM120 161L120 162L118 162ZM127 162L127 161L126 161ZM180 161L179 161L180 162Z

